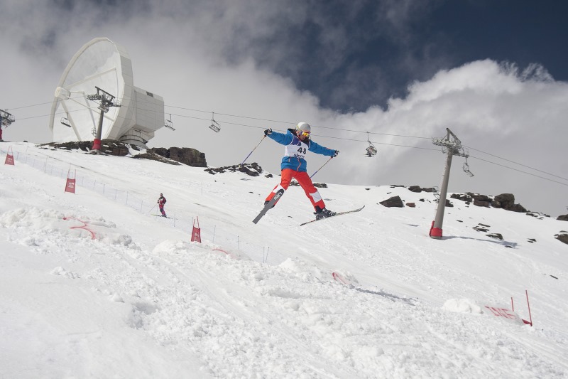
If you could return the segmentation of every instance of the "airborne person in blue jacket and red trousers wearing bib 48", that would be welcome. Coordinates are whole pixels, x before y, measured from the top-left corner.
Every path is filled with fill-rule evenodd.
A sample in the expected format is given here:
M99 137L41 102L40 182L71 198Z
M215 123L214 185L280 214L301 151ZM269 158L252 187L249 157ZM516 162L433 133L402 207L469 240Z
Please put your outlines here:
M320 193L312 183L312 179L310 179L310 176L306 172L307 164L304 156L307 151L312 151L315 154L336 157L337 154L339 154L339 150L328 149L311 141L311 132L312 128L306 122L299 122L295 129L288 129L286 134L273 132L272 129L266 129L264 131L265 136L285 146L284 157L280 164L280 169L282 170L280 184L274 187L266 198L264 205L271 201L281 188L286 190L288 186L290 186L292 178L295 178L297 182L300 183L300 186L302 186L307 198L312 202L316 219L320 220L320 218L335 215L335 212L325 208L322 196L320 196Z

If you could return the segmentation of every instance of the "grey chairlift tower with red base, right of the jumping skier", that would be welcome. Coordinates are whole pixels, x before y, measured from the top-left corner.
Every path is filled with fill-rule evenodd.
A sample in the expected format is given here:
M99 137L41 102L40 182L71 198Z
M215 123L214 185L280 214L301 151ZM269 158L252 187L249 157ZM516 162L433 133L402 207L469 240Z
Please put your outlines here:
M444 223L444 210L446 208L446 197L448 192L448 182L449 182L449 169L452 166L452 157L454 155L463 156L466 159L464 164L464 171L469 176L474 176L469 171L469 166L467 166L467 157L469 154L464 151L461 146L461 141L456 137L451 130L446 128L447 136L444 139L432 138L432 143L437 146L442 146L442 153L447 153L446 167L444 169L444 176L442 176L442 186L440 186L438 207L436 210L436 218L432 221L432 226L430 227L430 237L436 238L438 240L442 239L442 223Z

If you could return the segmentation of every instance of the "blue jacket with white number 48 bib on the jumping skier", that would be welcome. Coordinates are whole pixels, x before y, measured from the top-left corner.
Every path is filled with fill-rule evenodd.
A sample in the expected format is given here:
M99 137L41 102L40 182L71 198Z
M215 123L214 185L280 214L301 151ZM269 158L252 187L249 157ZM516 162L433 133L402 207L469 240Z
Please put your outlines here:
M294 129L288 129L286 134L272 132L271 134L268 134L268 137L285 146L284 157L280 164L281 170L293 169L294 171L306 172L307 163L304 156L307 151L327 156L334 156L335 154L335 150L327 149L327 147L310 141L310 137L306 137L302 141L297 137Z

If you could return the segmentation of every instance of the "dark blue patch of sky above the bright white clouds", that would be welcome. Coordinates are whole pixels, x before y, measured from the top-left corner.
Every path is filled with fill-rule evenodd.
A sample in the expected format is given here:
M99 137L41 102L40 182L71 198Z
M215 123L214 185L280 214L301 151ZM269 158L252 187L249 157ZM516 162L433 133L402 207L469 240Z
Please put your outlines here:
M539 63L567 80L568 40L559 1L285 1L293 16L274 16L255 34L239 28L228 60L253 55L341 112L385 106L415 80L474 60ZM298 17L302 10L302 16ZM216 26L214 26L216 27ZM253 48L238 43L251 37ZM275 55L267 50L283 50Z

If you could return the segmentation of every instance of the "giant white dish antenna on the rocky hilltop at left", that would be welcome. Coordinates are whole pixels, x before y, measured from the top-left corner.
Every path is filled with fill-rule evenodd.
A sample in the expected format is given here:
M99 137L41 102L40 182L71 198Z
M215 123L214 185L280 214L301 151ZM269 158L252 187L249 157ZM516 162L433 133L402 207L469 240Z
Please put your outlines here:
M120 105L104 112L101 139L146 148L154 132L164 126L163 98L134 87L128 53L108 38L94 38L82 46L61 75L51 106L53 142L94 139L101 110L87 96L97 94L97 87Z

